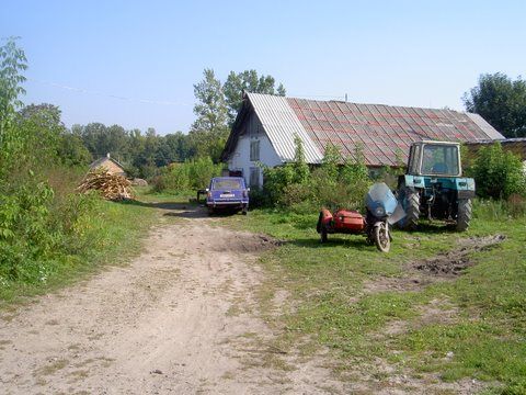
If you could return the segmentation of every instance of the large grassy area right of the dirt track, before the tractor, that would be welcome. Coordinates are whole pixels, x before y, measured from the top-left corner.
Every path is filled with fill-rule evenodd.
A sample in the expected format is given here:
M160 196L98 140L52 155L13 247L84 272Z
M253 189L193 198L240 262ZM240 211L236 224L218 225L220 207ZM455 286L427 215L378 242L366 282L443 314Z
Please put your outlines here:
M425 224L421 232L396 230L387 255L361 236L330 235L321 245L316 213L254 210L247 218L225 221L286 241L262 258L268 279L260 290L263 314L282 332L282 347L307 337L305 350L333 350L339 371L379 358L415 377L472 377L501 383L493 392L526 393L525 217L513 219L499 204L476 204L468 233ZM428 284L407 286L422 279L412 262L459 248L459 238L495 234L506 239L470 253L473 264L461 275L430 274ZM278 290L291 296L276 316L272 301ZM393 326L401 329L391 332Z

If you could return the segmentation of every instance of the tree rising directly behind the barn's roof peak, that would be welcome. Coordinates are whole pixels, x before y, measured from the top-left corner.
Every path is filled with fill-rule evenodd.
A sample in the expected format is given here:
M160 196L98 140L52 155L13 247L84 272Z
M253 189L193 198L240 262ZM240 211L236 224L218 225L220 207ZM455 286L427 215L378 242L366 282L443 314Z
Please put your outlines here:
M231 126L243 100L242 92L266 93L285 95L285 87L279 83L276 87L276 80L272 76L258 76L255 70L244 70L241 72L230 71L227 81L222 86L225 101L228 108L228 124Z

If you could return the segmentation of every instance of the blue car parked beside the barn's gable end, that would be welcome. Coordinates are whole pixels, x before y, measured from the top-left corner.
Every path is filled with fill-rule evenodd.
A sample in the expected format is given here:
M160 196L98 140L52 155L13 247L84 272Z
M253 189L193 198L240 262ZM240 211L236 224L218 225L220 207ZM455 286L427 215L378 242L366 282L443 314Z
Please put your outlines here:
M208 214L220 210L241 211L247 215L249 210L250 188L244 185L242 177L215 177L206 189L206 206Z

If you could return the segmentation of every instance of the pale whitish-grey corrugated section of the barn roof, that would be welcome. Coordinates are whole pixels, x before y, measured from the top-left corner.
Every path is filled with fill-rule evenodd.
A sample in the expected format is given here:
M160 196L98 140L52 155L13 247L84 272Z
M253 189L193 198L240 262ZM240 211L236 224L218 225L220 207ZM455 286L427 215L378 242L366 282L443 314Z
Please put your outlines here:
M294 159L295 135L301 138L306 160L319 163L323 158L318 146L309 137L298 116L284 97L260 93L247 93L258 117L263 125L271 144L283 161Z

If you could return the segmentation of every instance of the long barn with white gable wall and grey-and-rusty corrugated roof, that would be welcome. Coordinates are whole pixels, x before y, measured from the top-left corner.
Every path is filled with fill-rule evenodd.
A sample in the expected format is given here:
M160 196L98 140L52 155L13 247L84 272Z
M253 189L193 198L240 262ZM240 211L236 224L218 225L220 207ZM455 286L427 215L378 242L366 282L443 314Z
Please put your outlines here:
M243 94L221 159L231 173L252 187L263 184L260 163L291 161L295 137L304 144L307 162L320 163L325 147L336 146L346 159L359 149L369 169L405 162L412 142L483 142L503 139L480 115L448 109L420 109L344 101L320 101Z

